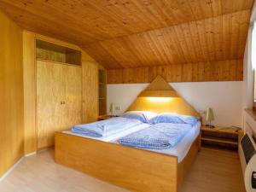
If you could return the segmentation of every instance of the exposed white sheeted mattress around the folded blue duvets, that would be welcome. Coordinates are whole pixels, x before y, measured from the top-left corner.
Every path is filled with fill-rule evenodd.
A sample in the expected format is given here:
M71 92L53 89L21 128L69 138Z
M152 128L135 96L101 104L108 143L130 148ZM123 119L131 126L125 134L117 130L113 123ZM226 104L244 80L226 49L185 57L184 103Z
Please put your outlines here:
M143 129L147 128L148 126L149 126L148 124L137 125L137 126L131 127L128 130L122 131L118 134L114 134L114 135L108 136L108 137L87 137L87 136L75 134L71 131L62 131L62 132L71 134L71 135L75 135L75 136L79 136L79 137L96 139L96 140L100 140L102 142L118 143L117 140L119 138L125 137L125 136L131 134L132 132L143 130ZM161 154L170 154L173 156L177 156L178 162L181 162L183 160L183 158L188 154L189 148L191 147L192 143L195 141L196 137L198 137L198 135L200 133L200 127L201 127L201 123L198 122L197 125L193 126L192 129L183 137L183 139L179 143L177 143L177 145L174 146L173 148L164 149L164 150L154 150L154 149L145 149L145 150L150 150L150 151L154 151L156 153L161 153Z

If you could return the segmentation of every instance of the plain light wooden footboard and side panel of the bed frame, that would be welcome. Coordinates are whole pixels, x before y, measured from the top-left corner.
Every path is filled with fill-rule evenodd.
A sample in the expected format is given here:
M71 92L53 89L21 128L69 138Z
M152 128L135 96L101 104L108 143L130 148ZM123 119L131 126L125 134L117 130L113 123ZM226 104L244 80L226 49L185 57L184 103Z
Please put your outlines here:
M194 161L198 140L192 146L178 165L176 156L57 132L55 162L132 191L177 192L177 180L182 182L185 165Z

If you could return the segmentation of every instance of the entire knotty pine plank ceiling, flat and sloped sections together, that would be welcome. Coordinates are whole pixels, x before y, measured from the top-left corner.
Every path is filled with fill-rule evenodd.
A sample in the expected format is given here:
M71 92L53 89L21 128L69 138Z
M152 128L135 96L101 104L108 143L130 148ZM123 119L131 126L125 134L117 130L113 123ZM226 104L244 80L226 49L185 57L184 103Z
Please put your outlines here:
M0 0L21 27L107 69L243 58L253 0Z

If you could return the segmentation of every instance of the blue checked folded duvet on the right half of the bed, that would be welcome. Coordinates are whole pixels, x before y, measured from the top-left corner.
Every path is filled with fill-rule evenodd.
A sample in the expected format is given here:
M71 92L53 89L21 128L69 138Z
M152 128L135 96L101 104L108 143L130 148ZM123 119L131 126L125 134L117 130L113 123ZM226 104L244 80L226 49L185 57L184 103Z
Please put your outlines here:
M119 143L135 148L172 148L191 128L192 126L189 124L160 123L122 137L119 139Z

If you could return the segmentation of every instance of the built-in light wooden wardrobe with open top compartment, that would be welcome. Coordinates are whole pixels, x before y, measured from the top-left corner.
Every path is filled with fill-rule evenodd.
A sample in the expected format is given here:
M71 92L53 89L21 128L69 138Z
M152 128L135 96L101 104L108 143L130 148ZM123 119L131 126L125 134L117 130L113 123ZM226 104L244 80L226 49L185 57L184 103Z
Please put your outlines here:
M52 147L55 131L98 119L99 70L79 46L23 32L25 154Z

